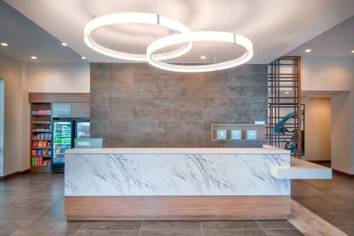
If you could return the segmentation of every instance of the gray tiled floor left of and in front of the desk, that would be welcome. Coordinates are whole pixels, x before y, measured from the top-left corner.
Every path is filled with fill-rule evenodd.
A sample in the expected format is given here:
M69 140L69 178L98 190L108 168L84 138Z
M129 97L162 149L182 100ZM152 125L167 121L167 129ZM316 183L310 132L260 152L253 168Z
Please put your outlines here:
M62 175L0 181L0 236L302 235L287 220L67 222L63 194Z

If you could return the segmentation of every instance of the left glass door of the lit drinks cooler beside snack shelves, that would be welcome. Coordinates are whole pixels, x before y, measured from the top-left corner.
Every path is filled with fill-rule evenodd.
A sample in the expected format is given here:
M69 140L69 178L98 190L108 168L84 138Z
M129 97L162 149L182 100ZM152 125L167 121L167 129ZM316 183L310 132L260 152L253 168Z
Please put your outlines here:
M64 164L64 153L72 148L72 122L55 121L53 125L53 164Z

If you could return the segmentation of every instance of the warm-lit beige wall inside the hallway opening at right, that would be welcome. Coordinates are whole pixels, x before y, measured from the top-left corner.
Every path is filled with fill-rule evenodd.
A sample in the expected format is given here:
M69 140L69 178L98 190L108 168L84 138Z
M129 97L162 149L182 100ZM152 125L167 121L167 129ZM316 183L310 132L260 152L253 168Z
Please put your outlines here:
M331 99L302 99L305 105L305 155L307 160L331 160Z

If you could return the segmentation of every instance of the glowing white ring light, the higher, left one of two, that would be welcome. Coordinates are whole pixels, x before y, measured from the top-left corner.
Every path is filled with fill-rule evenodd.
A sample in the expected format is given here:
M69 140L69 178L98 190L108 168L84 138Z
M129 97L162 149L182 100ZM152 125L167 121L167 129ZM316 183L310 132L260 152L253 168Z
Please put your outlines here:
M104 26L110 26L113 24L119 23L147 23L154 26L164 26L171 30L178 31L179 33L189 33L190 30L187 26L183 25L178 21L175 21L171 18L159 16L152 13L139 13L139 12L125 12L125 13L114 13L105 16L100 16L94 18L92 21L86 24L84 28L84 40L86 45L91 47L91 49L100 52L103 55L110 57L115 57L123 60L132 60L146 62L147 55L144 54L132 54L127 52L119 52L116 50L111 50L108 47L103 47L102 45L96 43L95 40L91 37L91 33L98 28ZM177 50L172 52L164 52L161 54L154 55L154 58L158 60L167 60L174 57L180 57L181 55L189 52L192 48L192 43L188 42L187 44L179 47Z

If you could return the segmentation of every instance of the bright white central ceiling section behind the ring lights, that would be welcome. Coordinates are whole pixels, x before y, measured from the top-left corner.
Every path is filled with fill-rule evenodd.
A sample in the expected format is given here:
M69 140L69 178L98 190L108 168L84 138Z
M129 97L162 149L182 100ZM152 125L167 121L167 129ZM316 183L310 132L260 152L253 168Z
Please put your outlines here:
M251 63L268 63L285 55L338 23L354 16L353 0L5 0L91 62L118 62L84 44L83 30L94 16L137 11L175 18L190 30L227 30L253 41ZM103 45L125 52L144 53L147 45L168 35L151 26L122 25L95 33ZM193 50L173 62L212 62L214 45L194 44ZM217 45L217 60L240 53L234 46ZM211 61L210 61L211 60Z

